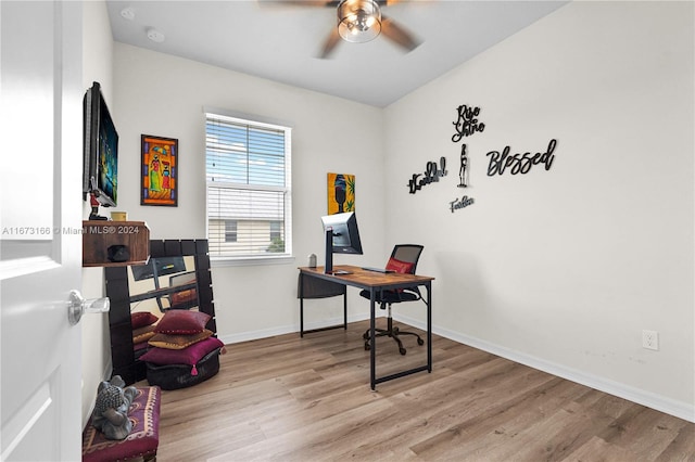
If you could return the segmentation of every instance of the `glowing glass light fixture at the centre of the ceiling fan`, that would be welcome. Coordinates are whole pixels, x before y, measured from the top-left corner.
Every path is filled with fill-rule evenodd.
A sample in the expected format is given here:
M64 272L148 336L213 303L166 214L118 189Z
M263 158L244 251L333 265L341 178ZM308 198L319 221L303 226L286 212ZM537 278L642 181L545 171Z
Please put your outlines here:
M338 33L343 40L364 43L381 33L381 11L374 0L343 0L338 5Z

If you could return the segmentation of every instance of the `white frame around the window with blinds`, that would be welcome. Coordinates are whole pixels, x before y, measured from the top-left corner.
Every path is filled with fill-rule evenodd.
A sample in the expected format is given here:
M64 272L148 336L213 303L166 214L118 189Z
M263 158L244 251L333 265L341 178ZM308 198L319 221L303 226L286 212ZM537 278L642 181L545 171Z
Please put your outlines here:
M210 194L211 187L217 189L231 189L237 191L242 190L251 190L251 191L271 191L279 192L282 191L283 194L283 217L282 220L268 220L281 222L285 230L285 252L282 253L266 253L258 255L242 255L242 256L232 256L232 255L215 255L213 253L213 246L210 245L210 259L213 266L242 266L242 265L266 265L266 264L283 264L283 262L293 262L294 256L292 254L292 126L285 121L273 120L267 117L260 117L254 115L247 115L235 113L226 110L215 108L215 107L203 107L203 134L205 138L205 153L204 153L204 162L205 162L205 235L210 241L210 228L211 228L211 216L210 216ZM285 134L285 185L283 187L268 187L263 184L249 184L249 183L220 183L220 182L212 182L207 179L207 123L210 119L216 119L222 123L228 121L233 125L245 126L249 128L258 128L258 129L269 129L269 130L279 130ZM215 218L212 218L215 219ZM220 218L219 220L237 220L239 223L239 219L235 217L229 218ZM224 227L224 224L223 224ZM239 229L238 231L239 232ZM223 242L225 236L223 235Z

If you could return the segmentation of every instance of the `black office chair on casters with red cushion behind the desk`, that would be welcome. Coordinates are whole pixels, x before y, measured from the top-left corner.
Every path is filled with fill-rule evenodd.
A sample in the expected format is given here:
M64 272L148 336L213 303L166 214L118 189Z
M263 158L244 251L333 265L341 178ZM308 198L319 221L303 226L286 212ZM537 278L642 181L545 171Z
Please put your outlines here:
M417 260L420 258L420 254L422 253L424 246L416 244L399 244L393 247L393 252L391 253L391 257L389 258L389 262L387 264L387 269L391 269L397 272L410 273L415 274L415 270L417 268ZM359 293L361 296L369 299L369 291L362 291ZM417 337L417 344L424 345L425 342L418 334L415 332L406 332L401 331L399 328L393 326L393 318L391 317L391 305L400 304L402 301L416 301L421 300L422 296L420 295L420 291L417 286L400 288L397 291L381 291L377 294L377 299L375 300L380 306L381 309L388 309L387 316L387 329L376 329L375 335L377 337L389 336L399 344L399 351L401 355L405 355L406 349L403 347L403 343L400 335L414 335ZM363 338L365 339L365 349L368 350L371 348L369 342L370 329L364 333Z

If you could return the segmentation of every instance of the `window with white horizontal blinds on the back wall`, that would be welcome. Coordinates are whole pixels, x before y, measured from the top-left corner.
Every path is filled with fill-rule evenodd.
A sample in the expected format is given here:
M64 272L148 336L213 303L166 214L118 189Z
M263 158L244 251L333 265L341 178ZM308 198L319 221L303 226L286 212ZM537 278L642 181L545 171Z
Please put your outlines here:
M206 114L210 256L291 255L291 129Z

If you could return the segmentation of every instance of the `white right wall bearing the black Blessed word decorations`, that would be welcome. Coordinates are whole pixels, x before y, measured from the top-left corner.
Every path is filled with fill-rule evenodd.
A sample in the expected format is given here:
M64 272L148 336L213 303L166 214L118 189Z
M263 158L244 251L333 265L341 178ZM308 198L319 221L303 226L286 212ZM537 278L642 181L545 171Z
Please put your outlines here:
M388 107L387 241L425 244L437 332L695 420L693 37L692 2L572 2ZM466 190L460 104L485 124ZM486 175L551 139L548 171Z

